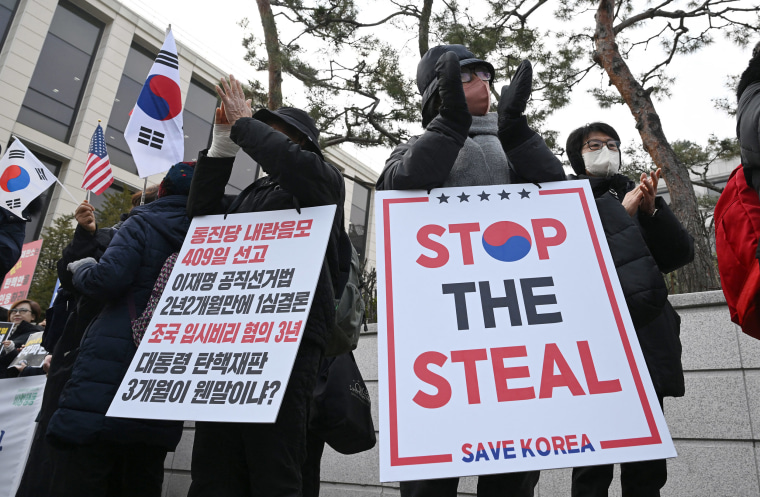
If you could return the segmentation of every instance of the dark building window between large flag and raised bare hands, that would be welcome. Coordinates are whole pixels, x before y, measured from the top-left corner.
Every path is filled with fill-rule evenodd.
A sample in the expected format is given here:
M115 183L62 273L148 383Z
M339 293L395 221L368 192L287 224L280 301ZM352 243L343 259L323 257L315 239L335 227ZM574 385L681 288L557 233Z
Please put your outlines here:
M196 81L190 81L182 114L185 131L185 159L195 160L198 152L211 144L217 97Z

